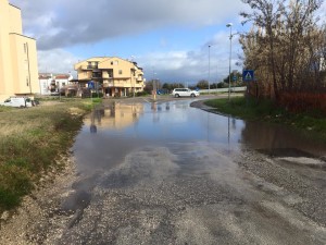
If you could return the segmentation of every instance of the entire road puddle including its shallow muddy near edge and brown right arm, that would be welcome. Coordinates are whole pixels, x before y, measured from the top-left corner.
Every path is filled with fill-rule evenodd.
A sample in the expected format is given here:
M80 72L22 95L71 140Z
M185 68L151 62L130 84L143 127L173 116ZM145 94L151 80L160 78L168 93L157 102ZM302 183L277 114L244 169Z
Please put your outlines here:
M160 175L167 176L170 171L165 169L168 166L161 164L170 162L178 169L172 175L202 177L215 173L214 179L228 180L236 188L241 184L230 183L230 180L238 174L237 164L228 158L241 151L253 149L287 164L302 161L309 167L325 167L325 146L296 131L209 113L191 108L190 102L116 102L93 110L85 119L73 147L79 181L74 183L75 192L62 204L60 211L70 213L84 209L96 186L112 186L114 177L111 176L109 183L101 179L125 168L123 164L130 169L142 168L140 172L150 168L147 174L160 179ZM171 160L171 157L176 159ZM152 168L152 163L156 167ZM138 176L130 172L121 174L113 181L114 185L126 185L135 177L147 176L140 172L136 170Z

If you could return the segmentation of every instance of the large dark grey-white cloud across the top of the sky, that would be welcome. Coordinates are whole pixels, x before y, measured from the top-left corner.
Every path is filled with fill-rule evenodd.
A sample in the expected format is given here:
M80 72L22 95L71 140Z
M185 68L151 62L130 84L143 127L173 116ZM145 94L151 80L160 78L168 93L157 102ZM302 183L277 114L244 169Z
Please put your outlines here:
M24 26L39 49L89 44L160 27L205 26L238 13L239 0L11 0L23 11Z

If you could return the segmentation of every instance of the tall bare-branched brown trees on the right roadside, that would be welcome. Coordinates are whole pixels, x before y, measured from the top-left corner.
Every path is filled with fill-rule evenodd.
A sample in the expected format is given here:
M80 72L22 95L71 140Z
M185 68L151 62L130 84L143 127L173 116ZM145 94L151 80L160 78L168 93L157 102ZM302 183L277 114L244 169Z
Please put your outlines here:
M251 13L242 12L244 23L252 22L241 35L244 68L255 70L264 95L278 98L283 91L321 86L321 53L325 34L316 25L319 0L242 0ZM308 81L309 79L309 81Z

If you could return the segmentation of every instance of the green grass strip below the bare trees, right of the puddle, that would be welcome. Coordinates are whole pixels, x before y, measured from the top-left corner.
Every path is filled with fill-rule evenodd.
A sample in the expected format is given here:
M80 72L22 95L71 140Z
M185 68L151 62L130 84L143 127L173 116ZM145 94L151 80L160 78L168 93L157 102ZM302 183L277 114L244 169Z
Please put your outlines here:
M228 99L212 99L204 103L216 108L217 112L243 120L281 123L316 133L315 135L317 135L318 139L326 143L326 113L318 110L291 113L284 108L277 107L271 100L247 100L244 97L231 98L230 101Z

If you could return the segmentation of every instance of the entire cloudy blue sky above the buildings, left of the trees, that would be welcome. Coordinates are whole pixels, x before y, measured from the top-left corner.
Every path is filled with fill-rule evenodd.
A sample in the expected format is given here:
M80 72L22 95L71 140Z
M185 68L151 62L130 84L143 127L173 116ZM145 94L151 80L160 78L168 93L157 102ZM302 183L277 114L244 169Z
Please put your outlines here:
M9 0L37 39L39 72L72 72L91 57L121 57L161 82L211 83L228 74L229 28L246 32L240 0ZM325 4L324 4L325 10ZM211 48L209 48L211 45ZM231 70L241 54L233 38ZM210 63L210 65L209 65Z

